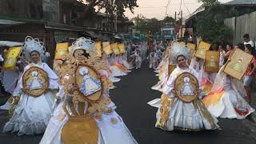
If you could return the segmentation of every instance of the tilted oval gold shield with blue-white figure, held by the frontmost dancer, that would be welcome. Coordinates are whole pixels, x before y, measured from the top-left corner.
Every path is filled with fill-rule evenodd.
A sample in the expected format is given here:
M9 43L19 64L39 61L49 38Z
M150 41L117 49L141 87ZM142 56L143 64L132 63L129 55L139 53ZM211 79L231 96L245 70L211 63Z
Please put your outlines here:
M92 66L80 65L75 72L79 92L88 102L98 102L102 98L103 84L97 70Z

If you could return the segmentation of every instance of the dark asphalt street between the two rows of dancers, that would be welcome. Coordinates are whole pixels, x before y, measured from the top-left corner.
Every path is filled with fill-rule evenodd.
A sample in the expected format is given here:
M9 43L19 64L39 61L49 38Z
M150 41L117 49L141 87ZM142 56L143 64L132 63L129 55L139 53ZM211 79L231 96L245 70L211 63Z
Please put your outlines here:
M122 81L115 84L116 89L110 94L118 106L120 114L130 129L134 138L141 144L253 144L256 142L255 130L252 124L246 120L220 119L222 130L200 132L166 132L154 128L156 108L147 105L147 102L159 98L160 93L151 90L158 81L154 71L149 70L144 64L141 70L133 70L132 73L122 77ZM1 98L1 103L4 99ZM4 111L0 111L0 126L7 121ZM42 135L21 136L16 134L0 134L1 144L38 143Z

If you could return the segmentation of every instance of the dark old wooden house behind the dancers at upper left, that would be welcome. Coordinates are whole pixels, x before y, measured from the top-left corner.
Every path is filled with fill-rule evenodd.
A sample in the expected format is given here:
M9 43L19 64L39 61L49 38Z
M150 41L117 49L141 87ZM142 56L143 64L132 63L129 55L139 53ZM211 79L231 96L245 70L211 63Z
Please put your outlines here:
M27 35L39 38L52 63L58 42L81 36L110 40L130 26L129 22L118 22L120 30L114 30L106 14L86 15L85 7L77 0L0 0L0 40L24 42Z

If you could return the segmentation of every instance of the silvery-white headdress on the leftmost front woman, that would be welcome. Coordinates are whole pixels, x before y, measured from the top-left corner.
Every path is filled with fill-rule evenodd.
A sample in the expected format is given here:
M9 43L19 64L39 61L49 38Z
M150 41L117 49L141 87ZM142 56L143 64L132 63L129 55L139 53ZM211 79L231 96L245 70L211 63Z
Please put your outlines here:
M30 53L32 51L37 51L42 59L50 56L50 54L46 52L46 47L43 42L40 42L38 38L26 36L25 42L22 45L23 57L30 61Z

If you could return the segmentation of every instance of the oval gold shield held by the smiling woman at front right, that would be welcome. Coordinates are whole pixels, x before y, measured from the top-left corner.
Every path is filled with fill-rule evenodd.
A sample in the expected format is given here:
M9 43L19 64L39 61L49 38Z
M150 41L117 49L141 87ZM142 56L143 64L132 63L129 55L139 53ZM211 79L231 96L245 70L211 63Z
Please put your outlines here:
M193 102L198 98L198 79L193 74L182 73L176 78L172 92L183 102Z

